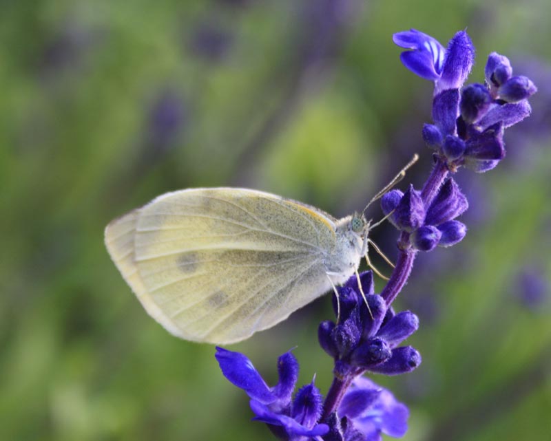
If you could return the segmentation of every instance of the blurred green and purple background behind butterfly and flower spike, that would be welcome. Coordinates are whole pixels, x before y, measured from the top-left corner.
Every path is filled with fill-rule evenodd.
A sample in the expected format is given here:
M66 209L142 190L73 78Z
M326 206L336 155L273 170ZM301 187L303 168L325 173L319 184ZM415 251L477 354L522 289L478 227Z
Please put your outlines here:
M405 440L551 440L546 0L1 1L1 440L271 439L214 347L143 311L103 228L191 186L346 215L415 151L406 182L420 186L432 85L399 63L391 35L408 28L442 43L467 28L470 82L495 50L540 92L495 171L458 173L470 232L420 256L397 301L421 318L423 364L374 379L410 407ZM395 230L373 235L393 255ZM326 392L317 326L331 316L323 297L231 349L275 380L297 346L299 384L317 373Z

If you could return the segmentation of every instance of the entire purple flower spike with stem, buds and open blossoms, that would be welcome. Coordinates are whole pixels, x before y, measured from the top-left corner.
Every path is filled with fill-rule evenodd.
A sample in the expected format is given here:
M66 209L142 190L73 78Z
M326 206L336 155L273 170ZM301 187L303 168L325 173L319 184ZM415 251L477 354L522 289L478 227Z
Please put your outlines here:
M407 407L362 374L405 374L421 363L415 348L402 345L419 320L413 312L395 312L392 303L417 252L453 246L466 235L456 218L468 200L450 173L461 166L479 173L495 168L505 156L504 130L531 112L528 98L536 87L526 76L513 76L508 58L495 52L486 63L485 83L463 87L475 60L466 32L457 32L447 48L417 30L398 32L393 40L407 49L402 63L435 84L433 123L422 131L434 166L421 190L410 185L405 193L382 197L382 211L399 230L399 254L386 286L375 294L371 271L359 281L352 277L337 288L338 299L333 296L336 321L318 328L320 346L334 361L329 391L323 398L312 380L293 398L299 366L291 352L278 359L279 381L269 387L245 355L216 349L222 373L251 398L253 419L282 440L379 441L382 433L406 433Z

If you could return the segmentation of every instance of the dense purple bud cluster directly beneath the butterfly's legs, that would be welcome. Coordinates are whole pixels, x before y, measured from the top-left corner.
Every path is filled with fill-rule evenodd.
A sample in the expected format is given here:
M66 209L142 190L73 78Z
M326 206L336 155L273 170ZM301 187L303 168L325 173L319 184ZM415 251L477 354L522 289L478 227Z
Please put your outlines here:
M395 314L387 308L384 299L373 293L371 271L363 272L360 280L365 300L356 278L351 277L337 288L339 299L333 297L335 314L340 313L337 323L324 321L318 328L320 345L335 359L335 376L412 371L421 363L419 352L398 345L419 327L417 316L409 311Z

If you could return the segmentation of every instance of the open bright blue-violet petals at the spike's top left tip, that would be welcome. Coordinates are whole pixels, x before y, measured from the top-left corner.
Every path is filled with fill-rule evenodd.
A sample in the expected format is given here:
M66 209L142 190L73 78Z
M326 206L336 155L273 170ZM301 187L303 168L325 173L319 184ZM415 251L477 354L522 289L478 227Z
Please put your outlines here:
M426 80L440 78L445 51L437 40L415 29L397 32L392 39L396 45L412 49L400 54L400 60L411 72Z

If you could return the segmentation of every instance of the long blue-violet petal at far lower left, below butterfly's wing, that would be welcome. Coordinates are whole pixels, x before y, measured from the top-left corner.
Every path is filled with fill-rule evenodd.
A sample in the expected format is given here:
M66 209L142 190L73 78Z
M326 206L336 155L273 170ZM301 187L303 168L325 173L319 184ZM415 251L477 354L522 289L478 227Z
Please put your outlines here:
M222 374L251 398L266 404L278 399L245 355L216 347L216 360Z

